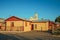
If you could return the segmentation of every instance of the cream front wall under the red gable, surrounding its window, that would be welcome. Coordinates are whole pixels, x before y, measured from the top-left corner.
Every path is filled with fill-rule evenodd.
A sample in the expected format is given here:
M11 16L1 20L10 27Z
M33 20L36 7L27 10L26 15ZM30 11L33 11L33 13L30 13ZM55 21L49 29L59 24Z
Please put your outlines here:
M14 27L11 27L11 22L14 22ZM23 21L6 21L6 30L19 31L20 27L24 26Z

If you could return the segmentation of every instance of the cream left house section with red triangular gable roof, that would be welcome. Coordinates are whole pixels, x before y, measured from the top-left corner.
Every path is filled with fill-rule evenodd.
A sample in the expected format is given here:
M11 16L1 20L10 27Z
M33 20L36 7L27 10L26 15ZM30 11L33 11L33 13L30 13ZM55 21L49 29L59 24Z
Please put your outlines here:
M5 20L6 31L31 31L30 21L18 18L16 16L9 17Z

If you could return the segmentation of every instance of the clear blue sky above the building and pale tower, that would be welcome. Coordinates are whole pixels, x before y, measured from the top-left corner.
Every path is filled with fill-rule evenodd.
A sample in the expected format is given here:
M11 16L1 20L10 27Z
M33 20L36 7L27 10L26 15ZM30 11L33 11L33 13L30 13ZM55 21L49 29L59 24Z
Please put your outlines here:
M29 19L37 12L39 19L54 20L60 15L59 0L0 0L0 18L17 16Z

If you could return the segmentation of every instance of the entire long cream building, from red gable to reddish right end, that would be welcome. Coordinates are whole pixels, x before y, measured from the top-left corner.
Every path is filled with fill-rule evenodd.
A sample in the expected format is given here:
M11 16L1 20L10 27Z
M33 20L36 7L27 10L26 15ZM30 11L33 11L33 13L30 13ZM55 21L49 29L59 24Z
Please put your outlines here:
M9 17L5 20L6 31L48 31L55 29L55 25L52 21L29 21L16 16Z

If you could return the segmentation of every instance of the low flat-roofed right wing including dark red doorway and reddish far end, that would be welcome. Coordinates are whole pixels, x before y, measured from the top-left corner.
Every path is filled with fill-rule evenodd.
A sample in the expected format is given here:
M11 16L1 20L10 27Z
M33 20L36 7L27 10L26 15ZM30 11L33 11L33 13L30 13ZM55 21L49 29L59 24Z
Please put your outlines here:
M52 21L35 21L31 24L32 30L37 31L49 31L55 29L56 27L56 24Z

